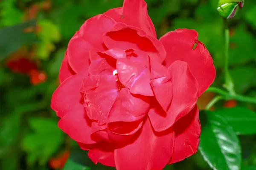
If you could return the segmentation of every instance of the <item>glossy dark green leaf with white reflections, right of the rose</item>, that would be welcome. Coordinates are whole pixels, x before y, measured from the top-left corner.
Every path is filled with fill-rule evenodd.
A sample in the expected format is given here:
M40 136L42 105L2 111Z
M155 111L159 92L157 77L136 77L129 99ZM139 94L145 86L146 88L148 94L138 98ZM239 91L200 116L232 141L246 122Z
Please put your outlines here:
M199 150L214 170L240 170L241 147L227 121L214 112L206 112L208 124L202 129Z

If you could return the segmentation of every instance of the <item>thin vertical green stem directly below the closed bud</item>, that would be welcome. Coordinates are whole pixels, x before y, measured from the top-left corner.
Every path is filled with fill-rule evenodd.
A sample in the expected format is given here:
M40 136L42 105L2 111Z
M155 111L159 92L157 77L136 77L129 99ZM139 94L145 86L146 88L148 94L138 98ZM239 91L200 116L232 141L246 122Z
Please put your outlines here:
M227 91L231 95L235 95L234 90L234 84L233 80L230 76L230 73L228 71L228 57L229 57L229 43L230 43L230 37L229 37L229 28L228 28L228 22L227 19L224 19L224 25L225 25L225 57L224 57L224 74L225 74L225 84L224 87L227 89Z

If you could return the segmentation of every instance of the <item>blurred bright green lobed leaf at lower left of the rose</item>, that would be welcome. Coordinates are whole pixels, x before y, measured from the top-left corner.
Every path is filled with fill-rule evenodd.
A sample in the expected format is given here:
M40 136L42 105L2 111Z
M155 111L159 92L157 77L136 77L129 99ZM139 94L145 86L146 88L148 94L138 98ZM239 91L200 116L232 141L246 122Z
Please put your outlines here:
M45 164L62 144L64 133L52 119L30 118L29 126L34 133L26 134L22 141L23 150L28 153L28 164L34 164L36 160L39 160L39 164Z

